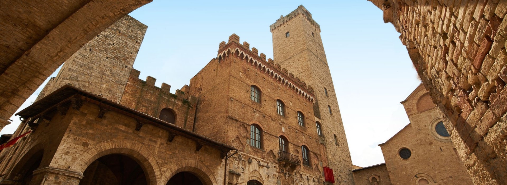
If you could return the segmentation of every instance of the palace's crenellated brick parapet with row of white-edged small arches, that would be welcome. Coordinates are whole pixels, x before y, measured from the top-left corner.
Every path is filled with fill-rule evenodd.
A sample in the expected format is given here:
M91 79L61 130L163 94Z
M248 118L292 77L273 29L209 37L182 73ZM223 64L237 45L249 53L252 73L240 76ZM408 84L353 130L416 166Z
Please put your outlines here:
M229 36L229 42L227 44L225 42L220 43L217 57L218 61L220 63L230 56L237 57L251 65L251 67L255 67L257 70L262 71L277 83L282 84L308 101L313 102L314 92L311 86L307 86L305 82L295 77L293 73L289 73L287 69L282 68L280 64L275 64L273 59L269 58L266 60L266 55L264 53L258 54L259 51L256 48L251 48L250 50L249 47L250 45L247 42L239 44L239 36L233 33Z

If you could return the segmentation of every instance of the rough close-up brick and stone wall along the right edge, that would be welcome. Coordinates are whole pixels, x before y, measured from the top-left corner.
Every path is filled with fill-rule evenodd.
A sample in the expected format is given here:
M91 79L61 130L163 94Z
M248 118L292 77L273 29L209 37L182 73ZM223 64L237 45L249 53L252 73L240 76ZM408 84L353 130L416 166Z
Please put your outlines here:
M371 0L401 33L475 184L507 184L507 1Z

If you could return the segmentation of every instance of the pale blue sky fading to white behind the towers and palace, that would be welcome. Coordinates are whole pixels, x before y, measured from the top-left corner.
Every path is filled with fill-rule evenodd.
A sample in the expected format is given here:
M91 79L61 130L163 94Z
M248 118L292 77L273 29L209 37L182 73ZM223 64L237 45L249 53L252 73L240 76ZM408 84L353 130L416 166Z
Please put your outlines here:
M152 76L157 86L165 82L174 92L216 57L219 43L232 33L273 58L269 25L299 5L320 25L352 162L363 167L384 162L377 144L409 123L400 102L420 81L400 34L366 0L155 0L129 14L148 25L134 68L141 71L141 79ZM15 122L1 134L16 129L19 119L11 119Z

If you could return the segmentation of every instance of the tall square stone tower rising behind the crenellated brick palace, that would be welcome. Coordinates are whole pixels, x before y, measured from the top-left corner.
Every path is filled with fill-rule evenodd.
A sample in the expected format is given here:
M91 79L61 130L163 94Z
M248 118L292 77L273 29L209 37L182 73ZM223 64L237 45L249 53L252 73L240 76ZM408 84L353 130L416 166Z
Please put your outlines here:
M320 26L303 7L280 17L270 26L275 63L312 86L314 115L323 131L329 165L340 184L353 184L352 161L345 137L335 87L325 58Z

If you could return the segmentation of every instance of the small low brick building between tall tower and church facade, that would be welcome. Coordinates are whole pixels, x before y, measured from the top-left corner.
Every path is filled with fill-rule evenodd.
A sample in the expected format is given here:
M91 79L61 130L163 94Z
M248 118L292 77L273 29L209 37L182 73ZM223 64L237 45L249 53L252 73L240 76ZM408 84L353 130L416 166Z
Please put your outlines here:
M391 185L385 163L352 170L356 185ZM377 181L375 181L373 179ZM375 183L376 182L376 183Z

